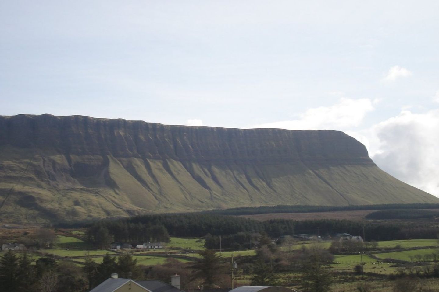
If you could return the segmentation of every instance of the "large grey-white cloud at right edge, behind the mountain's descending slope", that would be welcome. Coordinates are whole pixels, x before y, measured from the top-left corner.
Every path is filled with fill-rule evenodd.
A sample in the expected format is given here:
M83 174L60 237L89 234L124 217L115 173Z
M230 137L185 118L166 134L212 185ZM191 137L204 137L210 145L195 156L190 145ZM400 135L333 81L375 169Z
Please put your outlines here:
M384 171L439 197L439 110L398 116L360 132L347 132L366 145Z

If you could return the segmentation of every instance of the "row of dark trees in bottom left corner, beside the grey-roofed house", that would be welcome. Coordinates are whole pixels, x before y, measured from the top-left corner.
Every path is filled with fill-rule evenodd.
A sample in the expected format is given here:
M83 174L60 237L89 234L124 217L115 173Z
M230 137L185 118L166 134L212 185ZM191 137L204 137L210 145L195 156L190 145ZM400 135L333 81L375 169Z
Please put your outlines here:
M88 258L79 267L68 261L57 263L51 257L41 257L34 264L27 253L8 250L0 257L0 291L82 292L101 284L112 273L121 278L144 279L137 260L130 254L107 254L101 264Z

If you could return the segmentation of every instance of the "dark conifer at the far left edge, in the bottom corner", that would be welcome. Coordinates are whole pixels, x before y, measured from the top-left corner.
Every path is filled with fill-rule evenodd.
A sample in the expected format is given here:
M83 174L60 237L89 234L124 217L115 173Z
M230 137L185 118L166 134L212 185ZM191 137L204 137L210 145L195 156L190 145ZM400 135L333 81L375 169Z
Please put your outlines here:
M8 250L3 257L0 258L0 291L19 291L20 282L18 257L12 250Z

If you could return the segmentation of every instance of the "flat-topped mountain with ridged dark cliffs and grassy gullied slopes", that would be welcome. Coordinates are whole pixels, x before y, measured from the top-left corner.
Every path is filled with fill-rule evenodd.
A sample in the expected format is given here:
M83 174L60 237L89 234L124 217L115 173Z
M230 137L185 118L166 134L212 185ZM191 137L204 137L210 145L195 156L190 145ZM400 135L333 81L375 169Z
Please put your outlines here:
M0 116L6 221L438 201L381 171L362 144L338 131Z

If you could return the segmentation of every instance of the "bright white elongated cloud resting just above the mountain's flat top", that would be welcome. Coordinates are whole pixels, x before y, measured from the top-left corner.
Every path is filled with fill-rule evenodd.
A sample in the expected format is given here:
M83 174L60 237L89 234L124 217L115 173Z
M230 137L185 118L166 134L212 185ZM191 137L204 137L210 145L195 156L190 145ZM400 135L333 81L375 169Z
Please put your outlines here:
M342 98L334 106L311 108L297 120L255 125L252 128L282 128L288 130L343 130L358 127L366 113L374 109L371 99Z

